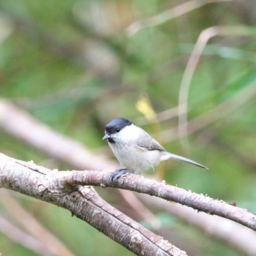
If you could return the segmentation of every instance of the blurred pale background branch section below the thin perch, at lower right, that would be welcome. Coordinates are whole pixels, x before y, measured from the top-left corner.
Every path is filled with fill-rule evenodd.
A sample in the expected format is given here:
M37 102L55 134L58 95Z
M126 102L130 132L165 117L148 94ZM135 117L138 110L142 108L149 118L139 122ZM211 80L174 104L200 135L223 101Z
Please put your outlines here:
M146 203L146 206L155 211L164 211L186 222L203 234L219 240L222 244L241 252L241 255L256 255L256 232L243 225L219 216L209 216L204 212L195 211L193 208L181 206L179 203L170 203L158 197L149 197L146 194L137 194ZM242 234L242 235L241 235Z

